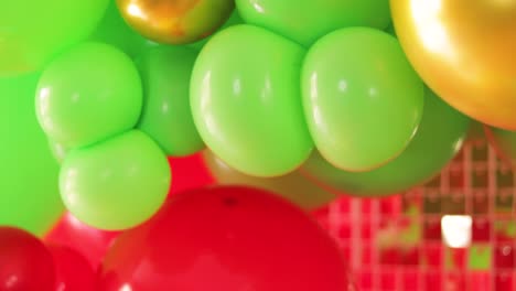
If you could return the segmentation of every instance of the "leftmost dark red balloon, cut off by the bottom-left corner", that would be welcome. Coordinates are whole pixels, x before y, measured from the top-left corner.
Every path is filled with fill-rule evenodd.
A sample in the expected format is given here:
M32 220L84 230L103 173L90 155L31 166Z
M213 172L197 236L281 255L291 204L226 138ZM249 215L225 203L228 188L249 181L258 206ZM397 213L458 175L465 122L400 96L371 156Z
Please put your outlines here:
M36 237L0 227L0 291L54 291L52 255Z

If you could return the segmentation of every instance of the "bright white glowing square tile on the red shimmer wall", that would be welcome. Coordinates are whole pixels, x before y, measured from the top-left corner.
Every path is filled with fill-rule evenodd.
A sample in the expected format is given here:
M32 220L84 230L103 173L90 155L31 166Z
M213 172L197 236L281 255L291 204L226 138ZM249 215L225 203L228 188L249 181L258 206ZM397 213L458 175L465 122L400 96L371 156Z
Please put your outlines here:
M444 244L450 248L465 248L471 245L471 216L444 215L441 229Z

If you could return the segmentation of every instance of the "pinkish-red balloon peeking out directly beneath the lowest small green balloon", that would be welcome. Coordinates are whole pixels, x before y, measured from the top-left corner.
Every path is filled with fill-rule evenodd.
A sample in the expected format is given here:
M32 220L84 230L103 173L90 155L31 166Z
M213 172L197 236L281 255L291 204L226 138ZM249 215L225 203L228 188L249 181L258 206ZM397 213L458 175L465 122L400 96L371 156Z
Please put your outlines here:
M118 231L105 231L83 224L72 214L65 213L46 235L47 244L66 246L80 254L96 270Z

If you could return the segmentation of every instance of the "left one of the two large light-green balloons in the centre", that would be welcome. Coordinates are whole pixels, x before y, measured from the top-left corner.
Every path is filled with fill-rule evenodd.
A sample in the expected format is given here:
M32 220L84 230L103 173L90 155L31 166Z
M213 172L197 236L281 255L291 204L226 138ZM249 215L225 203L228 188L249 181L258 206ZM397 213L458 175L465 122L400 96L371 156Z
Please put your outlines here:
M276 176L310 155L299 86L303 56L300 45L251 25L224 30L201 51L191 83L193 117L225 163Z

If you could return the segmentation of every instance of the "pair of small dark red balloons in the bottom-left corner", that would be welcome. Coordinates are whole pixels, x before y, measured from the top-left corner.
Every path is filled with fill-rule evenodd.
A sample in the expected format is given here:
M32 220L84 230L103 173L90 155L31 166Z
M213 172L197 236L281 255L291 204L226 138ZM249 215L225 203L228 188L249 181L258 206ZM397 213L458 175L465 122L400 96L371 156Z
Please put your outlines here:
M94 269L77 251L0 227L0 290L92 291L95 280Z

